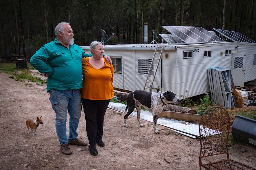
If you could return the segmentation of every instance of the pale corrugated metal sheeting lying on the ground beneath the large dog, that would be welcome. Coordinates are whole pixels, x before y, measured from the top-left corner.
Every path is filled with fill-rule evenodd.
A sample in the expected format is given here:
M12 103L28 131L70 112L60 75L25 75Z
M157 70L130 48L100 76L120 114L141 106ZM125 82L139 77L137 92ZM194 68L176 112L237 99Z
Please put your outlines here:
M108 109L114 110L120 113L124 113L125 108L126 108L126 105L122 103L110 102L108 105ZM137 112L133 111L131 115L134 117L137 117ZM140 113L140 119L153 122L153 116L149 111L142 110ZM192 123L181 121L181 120L163 119L163 118L158 118L157 124L168 127L172 130L175 130L175 132L181 133L188 137L196 138L199 136L199 125L197 124L192 124Z

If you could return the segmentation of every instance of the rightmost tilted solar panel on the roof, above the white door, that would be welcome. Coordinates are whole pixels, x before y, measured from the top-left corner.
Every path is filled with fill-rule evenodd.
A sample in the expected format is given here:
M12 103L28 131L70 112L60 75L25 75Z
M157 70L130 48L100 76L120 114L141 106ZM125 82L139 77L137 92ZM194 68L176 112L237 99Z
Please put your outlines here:
M227 39L235 42L246 42L246 43L256 43L256 41L253 41L252 39L244 36L241 33L238 33L236 31L227 31L227 30L220 30L217 28L213 28L215 31L217 31L220 35L225 36Z

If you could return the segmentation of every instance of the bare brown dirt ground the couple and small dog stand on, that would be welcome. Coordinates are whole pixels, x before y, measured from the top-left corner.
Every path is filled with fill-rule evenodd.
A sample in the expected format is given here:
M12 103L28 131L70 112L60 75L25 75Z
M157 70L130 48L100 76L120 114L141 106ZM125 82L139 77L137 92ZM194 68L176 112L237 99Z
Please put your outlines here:
M0 72L0 169L199 169L199 140L160 125L160 134L154 134L151 122L142 120L146 127L141 128L132 116L127 120L129 128L125 128L123 115L111 110L105 114L105 147L96 146L97 156L90 155L87 146L76 145L70 145L72 155L64 155L59 149L55 113L46 86L9 77ZM26 119L39 116L43 124L37 128L37 135L27 134ZM88 142L83 111L78 138ZM234 144L229 152L231 159L256 168L256 147Z

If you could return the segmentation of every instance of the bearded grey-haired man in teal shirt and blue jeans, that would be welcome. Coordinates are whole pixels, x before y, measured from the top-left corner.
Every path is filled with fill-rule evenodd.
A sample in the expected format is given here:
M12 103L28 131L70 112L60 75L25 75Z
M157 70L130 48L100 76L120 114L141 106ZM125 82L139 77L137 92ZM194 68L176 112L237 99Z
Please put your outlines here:
M78 45L74 44L74 34L67 22L59 23L55 30L54 41L42 46L31 57L30 64L47 78L47 92L56 113L55 127L60 142L60 150L66 155L72 154L70 145L86 146L79 140L77 128L81 116L82 58L89 57ZM111 62L109 56L104 56ZM69 136L67 138L67 111L69 118Z

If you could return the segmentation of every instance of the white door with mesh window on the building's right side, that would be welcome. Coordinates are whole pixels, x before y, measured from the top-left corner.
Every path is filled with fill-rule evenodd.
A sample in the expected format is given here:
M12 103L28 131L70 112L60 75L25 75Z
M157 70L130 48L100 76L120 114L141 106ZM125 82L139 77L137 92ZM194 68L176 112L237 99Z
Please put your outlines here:
M244 86L246 54L232 53L231 74L235 86Z

